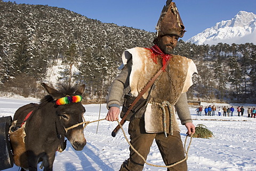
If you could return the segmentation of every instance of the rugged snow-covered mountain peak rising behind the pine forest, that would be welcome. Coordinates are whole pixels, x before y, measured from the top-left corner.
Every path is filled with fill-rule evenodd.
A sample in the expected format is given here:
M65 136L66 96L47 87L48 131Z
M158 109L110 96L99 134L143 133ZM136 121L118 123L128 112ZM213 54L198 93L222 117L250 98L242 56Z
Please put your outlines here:
M186 42L202 44L256 44L256 14L239 11L231 20L218 22L214 27L191 37Z

